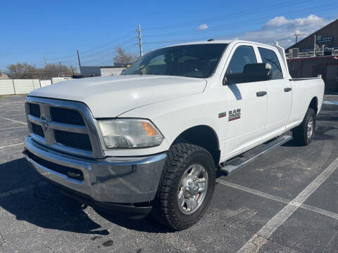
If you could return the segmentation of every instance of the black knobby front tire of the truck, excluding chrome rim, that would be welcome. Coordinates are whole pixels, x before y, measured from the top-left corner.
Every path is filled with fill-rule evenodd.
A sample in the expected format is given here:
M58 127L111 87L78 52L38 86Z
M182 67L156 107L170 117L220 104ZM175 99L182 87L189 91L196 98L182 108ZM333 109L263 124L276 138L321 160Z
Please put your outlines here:
M180 179L191 164L201 164L208 173L206 195L199 209L192 214L184 214L177 203ZM194 225L211 202L215 189L215 162L207 150L189 143L177 143L167 152L151 215L159 223L175 231L181 231Z

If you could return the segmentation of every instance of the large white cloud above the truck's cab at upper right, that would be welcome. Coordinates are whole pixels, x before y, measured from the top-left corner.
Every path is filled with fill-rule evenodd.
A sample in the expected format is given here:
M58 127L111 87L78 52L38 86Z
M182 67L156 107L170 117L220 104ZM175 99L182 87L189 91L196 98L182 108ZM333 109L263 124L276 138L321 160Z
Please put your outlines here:
M273 44L274 41L278 41L280 46L288 47L294 44L295 33L301 34L298 37L298 41L300 41L329 22L331 21L319 18L316 15L290 20L280 16L268 20L259 30L236 34L236 37L265 44ZM230 38L227 37L227 39Z

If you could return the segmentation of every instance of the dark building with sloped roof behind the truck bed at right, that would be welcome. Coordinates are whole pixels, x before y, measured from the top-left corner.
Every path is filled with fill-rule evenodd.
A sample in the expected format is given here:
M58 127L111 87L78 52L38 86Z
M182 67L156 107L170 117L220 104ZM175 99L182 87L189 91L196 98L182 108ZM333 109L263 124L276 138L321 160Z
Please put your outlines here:
M325 92L338 92L338 20L287 48L286 55L293 78L321 75Z

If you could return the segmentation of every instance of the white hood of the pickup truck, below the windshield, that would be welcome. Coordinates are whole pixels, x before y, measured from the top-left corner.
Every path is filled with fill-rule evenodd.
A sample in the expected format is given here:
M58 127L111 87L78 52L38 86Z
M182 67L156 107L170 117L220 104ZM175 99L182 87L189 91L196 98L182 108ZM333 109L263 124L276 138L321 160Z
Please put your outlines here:
M117 117L123 112L204 91L205 79L154 75L91 77L51 84L29 96L85 103L96 118Z

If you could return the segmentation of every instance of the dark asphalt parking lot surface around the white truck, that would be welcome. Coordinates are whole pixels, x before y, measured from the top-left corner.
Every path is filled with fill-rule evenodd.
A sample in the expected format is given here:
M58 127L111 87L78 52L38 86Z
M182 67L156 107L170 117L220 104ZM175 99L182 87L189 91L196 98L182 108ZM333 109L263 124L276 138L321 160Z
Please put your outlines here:
M201 221L173 232L44 182L22 154L24 100L0 98L0 252L338 252L338 105L323 105L311 145L289 141L219 174Z

